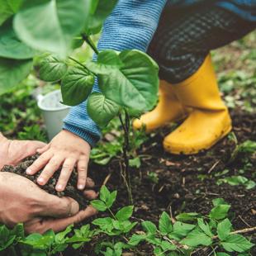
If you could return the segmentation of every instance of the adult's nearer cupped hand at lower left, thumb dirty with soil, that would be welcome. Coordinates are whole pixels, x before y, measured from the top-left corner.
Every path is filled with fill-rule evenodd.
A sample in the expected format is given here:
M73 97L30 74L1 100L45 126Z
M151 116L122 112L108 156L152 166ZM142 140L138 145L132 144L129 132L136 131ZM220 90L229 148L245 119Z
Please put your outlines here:
M93 186L88 178L87 187ZM97 197L96 192L90 189L84 195L89 199ZM9 227L24 223L27 233L42 234L50 229L58 232L96 213L92 206L79 211L77 201L50 195L27 178L14 173L0 173L0 222Z

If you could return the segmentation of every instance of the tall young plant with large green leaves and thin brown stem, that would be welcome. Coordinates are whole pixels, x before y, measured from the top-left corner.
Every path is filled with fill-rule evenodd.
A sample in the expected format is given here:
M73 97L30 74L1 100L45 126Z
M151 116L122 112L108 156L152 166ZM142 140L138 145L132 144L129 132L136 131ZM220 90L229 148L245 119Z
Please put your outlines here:
M0 29L0 36L4 37L4 43L0 41L0 57L8 58L0 59L0 73L7 79L2 84L0 78L0 94L26 77L31 70L31 57L50 53L40 62L40 78L47 82L61 80L64 104L76 106L88 100L88 114L99 127L119 117L125 134L121 177L131 202L130 118L149 111L157 102L158 65L140 50L99 52L93 44L90 36L101 30L117 0L18 2L11 4L15 11L9 19L2 20ZM9 10L10 6L6 4L6 8ZM84 64L70 55L83 42L92 48L97 60ZM101 92L92 92L95 81Z

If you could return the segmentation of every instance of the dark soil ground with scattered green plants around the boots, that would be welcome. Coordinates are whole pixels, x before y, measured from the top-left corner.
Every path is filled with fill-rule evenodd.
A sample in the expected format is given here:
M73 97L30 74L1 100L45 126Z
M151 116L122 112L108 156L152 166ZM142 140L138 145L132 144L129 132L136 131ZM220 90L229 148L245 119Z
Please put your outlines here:
M217 50L213 55L220 88L225 102L230 107L234 122L233 133L227 138L221 140L211 150L196 156L173 156L164 153L161 141L175 126L164 128L150 136L142 133L135 133L132 136L131 146L134 150L130 159L130 170L134 206L126 208L126 213L129 213L126 220L119 220L130 221L126 224L133 228L131 234L128 228L124 230L121 223L115 222L115 218L109 212L102 211L99 217L105 218L104 220L94 220L90 230L88 225L85 225L83 229L73 231L74 233L68 238L66 234L70 229L60 235L49 232L45 235L45 239L39 235L24 238L22 232L13 236L12 231L5 230L2 226L4 231L1 230L3 232L1 234L7 236L6 234L11 232L9 233L11 242L2 239L3 246L7 247L20 239L24 246L33 243L45 246L46 254L54 254L59 246L65 247L63 244L73 244L75 248L62 253L65 255L94 255L96 249L99 254L102 251L101 254L105 255L121 255L121 250L124 250L131 251L131 255L176 256L183 255L183 246L192 246L194 255L256 254L255 249L250 249L250 243L255 243L256 240L256 232L252 230L256 226L255 38L256 34L252 33L243 40ZM5 135L13 138L45 140L45 130L36 107L36 100L31 95L41 84L34 77L28 78L25 84L26 88L17 89L15 97L10 93L0 102L0 129ZM10 112L11 108L12 112ZM94 163L90 166L91 176L98 184L105 183L111 192L118 191L116 201L111 208L117 216L118 211L123 206L127 206L126 189L121 185L118 171L123 140L120 130L118 121L113 121L104 131L102 143L92 151ZM100 198L103 203L98 201L94 203L102 206L102 210L107 210L103 206L106 203L103 197ZM223 198L224 201L216 201L216 198ZM221 218L216 218L215 215L221 211L213 210L218 207L218 203L220 203L219 208L225 209ZM131 211L133 211L132 216ZM183 214L184 212L193 214L186 215ZM159 223L159 219L162 224ZM216 223L211 223L211 219L216 220ZM133 223L136 223L134 227ZM97 227L101 231L98 231ZM21 226L17 229L22 230ZM96 232L93 235L92 230ZM118 230L115 231L116 235L106 236L106 232L111 233L113 230ZM180 232L175 236L177 230ZM247 239L239 234L230 237L230 232L235 230L247 230L243 233ZM173 231L175 231L174 235ZM17 233L17 230L13 232ZM126 239L129 242L122 237L124 233L127 233ZM62 243L64 239L67 240ZM81 243L88 242L88 239L90 243L82 246ZM56 240L59 242L55 242ZM198 244L198 240L202 244ZM212 240L214 240L213 244L211 244ZM102 242L97 245L97 241ZM7 242L10 244L8 245ZM136 243L139 245L134 248ZM177 254L171 254L174 246ZM65 249L64 247L60 249ZM250 249L250 253L243 253L246 249ZM44 251L39 248L35 255L45 255L45 251L43 254L41 250ZM6 252L3 252L3 255L7 255ZM191 254L189 249L187 254ZM28 250L25 255L32 254Z

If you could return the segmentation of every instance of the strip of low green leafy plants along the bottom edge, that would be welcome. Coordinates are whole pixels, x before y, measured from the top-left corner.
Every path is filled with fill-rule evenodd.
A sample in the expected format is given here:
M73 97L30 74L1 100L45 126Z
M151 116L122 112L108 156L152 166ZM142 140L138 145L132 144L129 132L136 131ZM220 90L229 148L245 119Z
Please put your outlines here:
M193 254L227 256L236 254L249 256L252 244L243 234L255 232L256 227L234 230L229 220L230 205L223 199L213 200L213 208L206 216L197 212L182 213L171 218L163 212L158 225L149 220L131 221L133 206L124 206L112 211L116 192L103 186L100 198L92 201L98 211L106 211L105 217L92 221L92 225L74 228L55 234L52 230L44 235L24 235L23 225L8 230L0 225L0 252L4 255L50 256L64 252L69 246L82 249L93 244L96 255L121 256L129 251L140 253L140 244L148 244L156 256L188 256ZM134 230L137 226L136 231ZM61 255L61 254L60 254Z

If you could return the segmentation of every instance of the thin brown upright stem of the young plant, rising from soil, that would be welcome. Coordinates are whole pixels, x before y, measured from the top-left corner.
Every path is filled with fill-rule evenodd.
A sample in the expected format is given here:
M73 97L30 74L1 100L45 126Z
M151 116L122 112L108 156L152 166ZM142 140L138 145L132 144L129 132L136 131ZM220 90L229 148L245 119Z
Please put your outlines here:
M125 121L123 121L121 113L119 114L119 120L121 122L122 129L124 130L124 133L125 133L125 142L124 142L123 150L122 150L123 151L123 161L121 164L121 176L124 180L124 183L126 184L129 203L132 205L133 198L132 198L132 192L131 192L130 171L129 171L130 116L126 110L125 110Z

